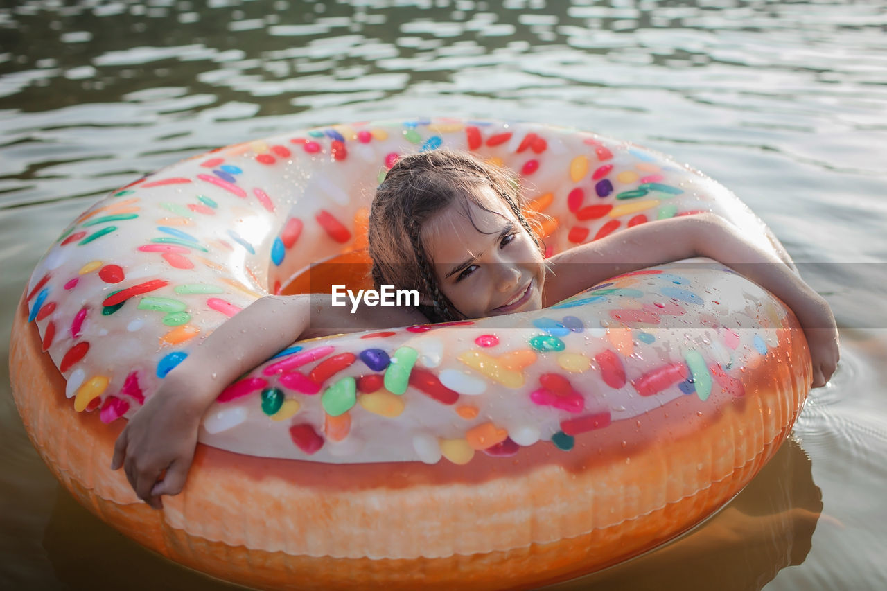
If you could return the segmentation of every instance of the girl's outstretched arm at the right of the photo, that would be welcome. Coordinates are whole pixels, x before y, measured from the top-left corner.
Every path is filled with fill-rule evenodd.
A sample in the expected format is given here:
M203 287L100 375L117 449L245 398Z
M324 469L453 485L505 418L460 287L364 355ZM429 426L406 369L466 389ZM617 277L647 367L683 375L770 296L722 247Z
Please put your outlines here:
M560 302L625 272L692 256L726 264L786 303L804 328L810 346L813 387L828 382L839 357L835 317L828 303L779 256L750 243L734 225L713 214L634 226L553 256L543 305Z

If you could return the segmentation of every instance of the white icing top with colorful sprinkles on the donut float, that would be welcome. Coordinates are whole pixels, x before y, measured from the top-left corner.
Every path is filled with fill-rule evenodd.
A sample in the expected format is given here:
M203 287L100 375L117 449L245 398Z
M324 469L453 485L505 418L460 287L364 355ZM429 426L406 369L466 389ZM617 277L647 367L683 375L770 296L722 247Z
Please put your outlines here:
M772 248L724 187L592 133L437 119L229 146L109 194L38 264L29 320L75 411L98 409L103 422L136 413L202 338L310 264L306 253L361 248L358 222L384 171L401 154L442 146L524 177L528 212L548 216L549 256L699 211ZM584 433L675 398L733 404L779 354L787 325L781 303L733 272L663 265L505 328L479 319L294 345L224 390L200 440L330 462L466 464L527 445L569 453Z

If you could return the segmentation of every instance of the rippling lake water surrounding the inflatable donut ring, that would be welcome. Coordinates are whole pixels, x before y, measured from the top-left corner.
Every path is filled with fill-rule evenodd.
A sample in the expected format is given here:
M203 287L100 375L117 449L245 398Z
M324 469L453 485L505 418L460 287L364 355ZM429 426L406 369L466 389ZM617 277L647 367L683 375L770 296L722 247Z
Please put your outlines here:
M68 221L186 156L422 115L626 138L757 211L831 303L842 360L718 516L554 588L887 588L885 29L881 0L0 3L0 354ZM81 508L0 372L0 587L233 588Z

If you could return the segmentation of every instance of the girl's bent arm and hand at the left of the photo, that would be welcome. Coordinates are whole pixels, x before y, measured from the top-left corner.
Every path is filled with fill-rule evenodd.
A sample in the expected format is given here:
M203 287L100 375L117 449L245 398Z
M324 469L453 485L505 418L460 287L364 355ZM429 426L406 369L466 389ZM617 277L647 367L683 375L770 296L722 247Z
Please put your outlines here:
M203 414L240 375L300 339L427 321L406 308L349 311L350 305L332 306L328 294L266 296L251 303L163 379L117 438L111 468L122 466L138 497L161 508L162 494L180 493L184 486Z

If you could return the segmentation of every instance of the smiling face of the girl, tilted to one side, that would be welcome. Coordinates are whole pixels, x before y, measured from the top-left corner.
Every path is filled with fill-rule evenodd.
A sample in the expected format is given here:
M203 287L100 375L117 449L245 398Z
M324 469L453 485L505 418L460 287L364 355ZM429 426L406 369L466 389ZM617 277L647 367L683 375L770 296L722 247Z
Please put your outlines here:
M467 318L539 310L542 254L492 187L475 191L483 208L453 203L422 228L440 290Z

